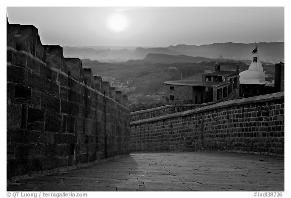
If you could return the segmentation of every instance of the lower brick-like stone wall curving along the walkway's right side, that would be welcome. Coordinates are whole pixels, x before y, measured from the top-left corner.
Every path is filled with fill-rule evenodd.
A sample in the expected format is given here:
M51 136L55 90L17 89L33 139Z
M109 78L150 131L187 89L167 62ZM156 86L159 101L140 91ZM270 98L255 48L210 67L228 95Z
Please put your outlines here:
M131 121L130 148L284 155L284 92Z

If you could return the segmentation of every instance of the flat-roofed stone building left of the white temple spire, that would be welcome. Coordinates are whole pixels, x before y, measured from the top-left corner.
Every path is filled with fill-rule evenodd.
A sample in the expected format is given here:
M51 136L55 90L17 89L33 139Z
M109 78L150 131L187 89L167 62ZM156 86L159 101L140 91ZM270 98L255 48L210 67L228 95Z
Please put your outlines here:
M202 81L166 81L165 100L200 104L217 102L238 97L239 71L220 71L220 64L215 65L215 72L202 76Z

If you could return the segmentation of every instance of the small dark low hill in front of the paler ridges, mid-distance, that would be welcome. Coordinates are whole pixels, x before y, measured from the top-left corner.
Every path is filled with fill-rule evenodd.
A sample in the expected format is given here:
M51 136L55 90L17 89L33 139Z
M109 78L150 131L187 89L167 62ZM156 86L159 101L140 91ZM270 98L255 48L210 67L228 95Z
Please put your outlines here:
M167 54L156 54L156 53L149 53L143 61L150 62L150 63L179 63L179 62L202 62L202 61L213 61L211 58L206 57L192 57L186 55L167 55Z

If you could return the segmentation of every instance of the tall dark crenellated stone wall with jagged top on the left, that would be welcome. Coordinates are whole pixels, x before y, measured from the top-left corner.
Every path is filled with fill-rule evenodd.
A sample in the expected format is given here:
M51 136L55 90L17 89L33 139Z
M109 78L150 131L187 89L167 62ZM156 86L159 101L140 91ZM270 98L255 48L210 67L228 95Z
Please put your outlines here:
M7 24L7 178L130 153L129 109L37 32Z

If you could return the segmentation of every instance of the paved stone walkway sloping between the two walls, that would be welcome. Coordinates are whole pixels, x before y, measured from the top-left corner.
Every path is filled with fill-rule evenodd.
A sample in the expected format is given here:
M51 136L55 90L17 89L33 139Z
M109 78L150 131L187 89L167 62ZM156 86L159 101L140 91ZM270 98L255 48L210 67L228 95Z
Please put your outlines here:
M131 154L15 182L8 191L284 191L284 158L191 152Z

